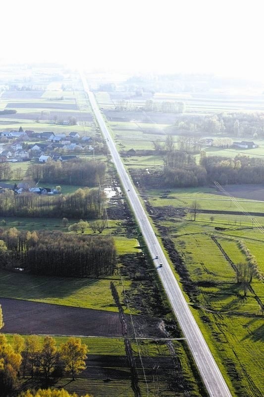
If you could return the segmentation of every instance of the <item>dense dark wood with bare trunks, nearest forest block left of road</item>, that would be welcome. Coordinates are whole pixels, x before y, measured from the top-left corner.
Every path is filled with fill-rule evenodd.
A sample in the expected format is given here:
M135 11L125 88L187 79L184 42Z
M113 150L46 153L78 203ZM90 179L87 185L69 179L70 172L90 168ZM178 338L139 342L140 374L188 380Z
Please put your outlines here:
M35 274L100 277L113 274L114 240L108 236L73 235L60 231L0 232L1 266Z

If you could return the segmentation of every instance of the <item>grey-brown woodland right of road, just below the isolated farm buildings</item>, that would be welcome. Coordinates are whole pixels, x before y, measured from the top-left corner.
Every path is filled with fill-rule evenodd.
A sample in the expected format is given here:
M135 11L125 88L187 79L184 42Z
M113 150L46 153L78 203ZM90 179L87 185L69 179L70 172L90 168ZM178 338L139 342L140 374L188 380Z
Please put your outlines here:
M159 177L167 187L203 186L213 181L220 184L263 184L264 159L207 157L205 152L201 152L200 165L197 165L193 156L175 150L167 154Z

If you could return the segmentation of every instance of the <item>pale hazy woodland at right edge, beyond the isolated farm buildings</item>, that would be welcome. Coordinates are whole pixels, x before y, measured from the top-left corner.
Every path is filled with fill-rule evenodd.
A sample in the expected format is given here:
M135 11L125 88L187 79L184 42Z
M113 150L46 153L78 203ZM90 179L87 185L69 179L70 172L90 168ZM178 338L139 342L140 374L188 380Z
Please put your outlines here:
M182 117L175 123L177 130L202 131L210 134L232 136L264 135L264 116L262 113L219 113L211 116Z

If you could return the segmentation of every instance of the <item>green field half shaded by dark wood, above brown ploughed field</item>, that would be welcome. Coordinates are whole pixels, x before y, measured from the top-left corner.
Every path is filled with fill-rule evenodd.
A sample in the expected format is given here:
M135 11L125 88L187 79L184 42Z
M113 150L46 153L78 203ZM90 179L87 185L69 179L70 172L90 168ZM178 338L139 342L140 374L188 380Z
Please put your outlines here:
M2 298L24 299L34 302L82 307L86 309L117 312L110 290L113 281L121 295L123 287L119 278L64 278L31 274L10 273L0 270L0 295ZM125 286L129 288L130 282Z

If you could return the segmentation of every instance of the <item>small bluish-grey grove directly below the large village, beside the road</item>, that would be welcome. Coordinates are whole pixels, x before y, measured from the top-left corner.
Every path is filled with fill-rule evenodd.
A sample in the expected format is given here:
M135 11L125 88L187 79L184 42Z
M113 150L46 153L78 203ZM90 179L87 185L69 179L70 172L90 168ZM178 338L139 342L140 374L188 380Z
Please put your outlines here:
M34 181L81 186L103 184L105 174L104 162L79 158L65 162L50 161L44 164L31 164L27 170L27 176Z

